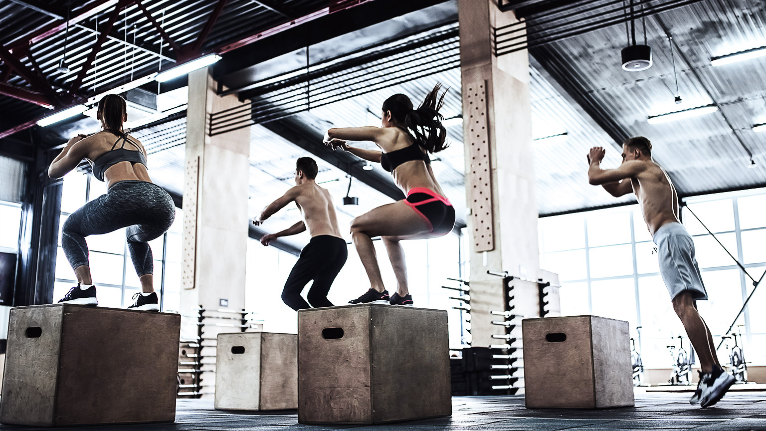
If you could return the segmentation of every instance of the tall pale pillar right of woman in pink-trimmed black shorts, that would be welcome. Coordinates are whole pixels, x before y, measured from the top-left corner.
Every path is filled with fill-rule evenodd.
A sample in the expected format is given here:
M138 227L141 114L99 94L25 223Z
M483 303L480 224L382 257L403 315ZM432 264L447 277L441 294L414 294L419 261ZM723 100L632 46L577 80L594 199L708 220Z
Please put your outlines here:
M496 0L459 0L459 7L471 327L473 346L488 346L501 342L492 334L506 333L490 324L502 317L489 311L506 310L508 298L502 278L486 271L534 281L540 272L529 56L527 51L493 54L493 28L517 21L513 12L500 11ZM513 286L512 312L538 316L537 283L517 279ZM520 319L516 323L519 331Z

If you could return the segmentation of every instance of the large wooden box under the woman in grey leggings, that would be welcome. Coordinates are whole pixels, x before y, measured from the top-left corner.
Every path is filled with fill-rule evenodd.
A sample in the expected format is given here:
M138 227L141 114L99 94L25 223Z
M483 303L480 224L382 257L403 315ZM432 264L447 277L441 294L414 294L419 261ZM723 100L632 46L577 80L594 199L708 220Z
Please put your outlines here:
M178 314L12 308L0 423L172 422L180 328Z

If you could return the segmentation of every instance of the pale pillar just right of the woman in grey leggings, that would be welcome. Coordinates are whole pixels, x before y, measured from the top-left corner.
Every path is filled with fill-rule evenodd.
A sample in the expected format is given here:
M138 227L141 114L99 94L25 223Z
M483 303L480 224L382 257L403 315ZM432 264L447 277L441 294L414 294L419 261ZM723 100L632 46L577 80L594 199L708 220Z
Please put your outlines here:
M237 315L217 311L244 308L250 128L210 136L212 113L243 104L234 95L218 97L215 87L207 68L188 75L181 312L193 316L201 306L208 316L225 318ZM239 329L215 323L205 319L203 337L214 340L218 332ZM194 317L182 319L181 336L197 337ZM203 357L214 354L214 341L202 344ZM211 374L203 373L204 393L214 390Z

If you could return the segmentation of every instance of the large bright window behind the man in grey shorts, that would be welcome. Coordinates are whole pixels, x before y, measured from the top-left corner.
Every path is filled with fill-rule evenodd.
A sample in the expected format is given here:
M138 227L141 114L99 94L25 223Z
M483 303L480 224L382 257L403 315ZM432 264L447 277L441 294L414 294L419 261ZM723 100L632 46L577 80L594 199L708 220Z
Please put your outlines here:
M718 344L752 291L750 277L758 280L766 270L766 190L700 196L686 203L683 223L694 238L709 296L709 301L699 302L699 310ZM539 226L542 268L561 279L561 313L629 321L631 337L640 340L644 364L669 367L667 346L686 332L673 312L639 207L547 217ZM763 289L735 326L745 336L748 360L756 364L766 364ZM688 338L683 342L688 347ZM719 350L719 355L724 359L726 352Z

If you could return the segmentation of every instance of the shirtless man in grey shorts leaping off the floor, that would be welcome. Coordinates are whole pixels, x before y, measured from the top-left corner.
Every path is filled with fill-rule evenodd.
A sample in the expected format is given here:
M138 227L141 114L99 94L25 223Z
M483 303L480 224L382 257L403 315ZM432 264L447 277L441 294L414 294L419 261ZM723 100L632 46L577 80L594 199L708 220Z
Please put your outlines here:
M626 140L622 157L623 162L617 169L601 169L604 148L591 148L588 182L603 186L615 197L636 194L643 220L657 245L660 275L670 292L673 310L699 356L702 372L689 403L712 406L721 400L735 379L719 364L710 330L697 312L696 301L707 299L707 292L694 258L694 242L679 221L676 188L660 165L652 160L652 144L647 138Z

